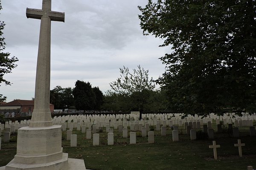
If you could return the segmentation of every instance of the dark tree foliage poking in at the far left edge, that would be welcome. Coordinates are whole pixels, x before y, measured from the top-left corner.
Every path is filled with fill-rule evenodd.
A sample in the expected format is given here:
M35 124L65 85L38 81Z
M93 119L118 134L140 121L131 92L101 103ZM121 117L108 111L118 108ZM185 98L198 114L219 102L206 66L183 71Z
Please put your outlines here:
M2 9L1 1L0 1L0 10ZM17 67L15 62L18 61L16 57L10 57L10 53L4 52L6 43L4 42L5 38L3 36L3 29L5 23L0 21L0 83L4 83L5 85L11 85L11 82L4 79L3 76L8 73L12 73L12 69ZM6 96L0 94L0 102L5 101Z

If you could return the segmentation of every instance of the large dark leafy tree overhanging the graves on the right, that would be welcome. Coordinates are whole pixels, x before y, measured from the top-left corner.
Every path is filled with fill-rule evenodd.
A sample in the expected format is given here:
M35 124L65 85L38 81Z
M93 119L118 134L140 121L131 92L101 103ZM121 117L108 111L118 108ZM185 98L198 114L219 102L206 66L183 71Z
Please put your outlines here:
M143 34L171 54L157 83L170 108L201 115L256 111L256 1L148 0L138 7Z

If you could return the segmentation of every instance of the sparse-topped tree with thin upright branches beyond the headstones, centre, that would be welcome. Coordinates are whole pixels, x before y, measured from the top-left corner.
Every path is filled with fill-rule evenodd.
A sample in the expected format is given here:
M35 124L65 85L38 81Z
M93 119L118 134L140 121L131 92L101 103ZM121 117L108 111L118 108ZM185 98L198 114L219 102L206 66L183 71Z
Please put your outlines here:
M155 99L161 98L160 91L155 90L155 83L148 77L148 70L140 65L130 72L123 66L119 68L120 77L110 83L112 91L105 94L104 108L111 111L160 111L165 108ZM141 119L141 114L140 114Z

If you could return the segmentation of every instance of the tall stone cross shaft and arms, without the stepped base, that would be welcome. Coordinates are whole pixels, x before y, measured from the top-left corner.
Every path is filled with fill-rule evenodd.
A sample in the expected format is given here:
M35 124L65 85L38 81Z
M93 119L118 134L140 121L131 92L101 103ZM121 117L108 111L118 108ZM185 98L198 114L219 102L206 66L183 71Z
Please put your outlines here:
M41 20L35 79L35 103L29 127L52 126L50 104L51 21L64 22L65 13L51 11L51 0L42 9L26 8L26 17Z

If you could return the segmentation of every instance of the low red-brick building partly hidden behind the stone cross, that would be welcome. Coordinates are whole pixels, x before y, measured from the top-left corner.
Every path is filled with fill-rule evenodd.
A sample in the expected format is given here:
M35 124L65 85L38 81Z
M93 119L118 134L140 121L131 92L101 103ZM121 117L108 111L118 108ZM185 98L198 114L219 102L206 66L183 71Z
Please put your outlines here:
M14 100L12 102L4 103L0 105L0 113L32 113L34 110L34 100ZM53 112L54 105L50 104L50 111Z

